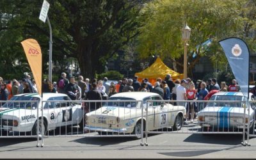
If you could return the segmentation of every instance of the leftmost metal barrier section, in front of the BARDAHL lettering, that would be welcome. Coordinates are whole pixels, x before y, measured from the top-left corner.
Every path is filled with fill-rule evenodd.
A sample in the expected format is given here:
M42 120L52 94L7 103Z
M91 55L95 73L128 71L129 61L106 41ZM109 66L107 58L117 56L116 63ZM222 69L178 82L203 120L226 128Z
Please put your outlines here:
M38 100L0 101L0 138L37 138Z

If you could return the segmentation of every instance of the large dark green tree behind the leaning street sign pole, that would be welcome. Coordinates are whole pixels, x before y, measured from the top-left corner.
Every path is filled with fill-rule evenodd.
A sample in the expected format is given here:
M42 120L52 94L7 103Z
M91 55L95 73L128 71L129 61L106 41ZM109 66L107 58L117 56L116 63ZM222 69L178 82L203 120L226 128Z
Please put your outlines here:
M14 40L36 38L47 52L49 29L39 19L42 1L1 1L2 13L14 15L4 32L17 31ZM81 74L94 77L104 70L106 59L138 35L136 19L143 1L129 0L49 0L49 19L53 35L53 60L64 55L77 58ZM9 6L8 6L9 4ZM10 5L12 4L12 5ZM6 8L8 6L8 8ZM6 38L1 36L1 42ZM13 43L6 43L8 45ZM4 52L2 52L3 54ZM44 57L44 60L47 60Z

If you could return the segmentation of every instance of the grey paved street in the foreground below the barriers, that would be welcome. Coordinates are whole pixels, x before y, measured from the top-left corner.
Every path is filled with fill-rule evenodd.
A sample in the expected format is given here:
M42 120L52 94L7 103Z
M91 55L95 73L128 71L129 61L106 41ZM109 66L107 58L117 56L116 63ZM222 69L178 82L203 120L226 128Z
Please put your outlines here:
M91 133L96 134L96 133ZM81 134L80 134L81 135ZM251 147L241 145L241 135L154 134L148 147L132 138L49 137L37 148L33 138L0 138L0 156L4 158L252 158ZM144 138L145 141L145 138Z

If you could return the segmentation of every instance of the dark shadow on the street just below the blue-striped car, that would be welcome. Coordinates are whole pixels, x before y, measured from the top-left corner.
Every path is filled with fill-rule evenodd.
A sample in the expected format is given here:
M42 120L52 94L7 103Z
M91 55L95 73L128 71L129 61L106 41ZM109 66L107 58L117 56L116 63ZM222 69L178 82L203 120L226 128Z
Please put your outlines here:
M242 134L191 134L191 136L184 141L220 145L240 145L242 140Z

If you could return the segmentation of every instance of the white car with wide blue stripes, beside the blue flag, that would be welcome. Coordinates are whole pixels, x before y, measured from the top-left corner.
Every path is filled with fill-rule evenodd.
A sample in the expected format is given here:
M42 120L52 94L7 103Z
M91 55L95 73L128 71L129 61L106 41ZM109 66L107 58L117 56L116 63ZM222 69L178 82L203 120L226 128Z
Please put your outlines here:
M246 107L247 98L242 92L218 92L212 95L210 100L216 102L208 102L207 106L202 109L198 115L198 124L202 126L203 131L229 131L234 132L243 129L244 107ZM250 93L249 100L253 100ZM249 107L245 109L246 126L250 121L250 131L255 128L254 109Z

